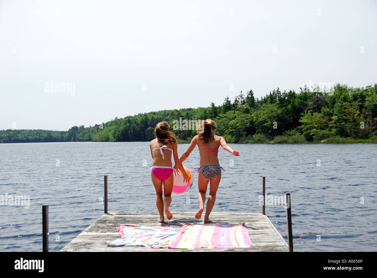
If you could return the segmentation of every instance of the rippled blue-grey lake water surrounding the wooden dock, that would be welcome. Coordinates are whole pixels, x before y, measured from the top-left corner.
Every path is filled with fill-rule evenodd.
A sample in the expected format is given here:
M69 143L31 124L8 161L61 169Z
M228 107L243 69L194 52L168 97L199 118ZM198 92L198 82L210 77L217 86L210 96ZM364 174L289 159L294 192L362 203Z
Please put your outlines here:
M265 176L268 196L291 193L294 251L377 250L377 144L229 145L241 156L219 149L225 173L213 211L262 211ZM49 250L60 251L103 214L104 175L109 211L157 213L149 142L0 144L0 153L0 198L30 196L29 207L0 206L0 251L42 250L43 204ZM184 165L199 166L197 148ZM197 211L193 176L188 192L173 194L171 211ZM267 204L266 214L287 240L284 206Z

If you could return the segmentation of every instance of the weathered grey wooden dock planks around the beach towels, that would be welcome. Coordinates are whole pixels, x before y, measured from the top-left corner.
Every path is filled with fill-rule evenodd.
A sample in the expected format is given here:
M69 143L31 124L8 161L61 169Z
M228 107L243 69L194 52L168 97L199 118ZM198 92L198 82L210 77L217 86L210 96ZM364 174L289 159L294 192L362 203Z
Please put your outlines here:
M113 241L120 237L116 232L118 225L184 225L203 224L202 220L195 218L196 212L172 212L173 218L165 223L159 223L159 215L156 212L108 212L98 218L85 231L81 232L66 247L61 249L65 252L206 252L206 251L283 251L288 252L288 245L284 238L272 225L267 215L261 213L246 212L211 212L211 223L205 225L231 225L245 222L245 228L253 243L251 248L242 249L153 249L143 246L107 246L105 241Z

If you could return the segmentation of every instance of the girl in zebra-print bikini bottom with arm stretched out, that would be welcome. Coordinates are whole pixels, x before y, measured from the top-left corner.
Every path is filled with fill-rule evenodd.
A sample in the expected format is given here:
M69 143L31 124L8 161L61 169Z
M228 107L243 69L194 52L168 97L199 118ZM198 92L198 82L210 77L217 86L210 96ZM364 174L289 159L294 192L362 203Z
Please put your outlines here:
M217 136L213 131L216 129L216 124L211 119L202 121L198 126L198 135L195 135L192 139L187 150L179 157L179 160L183 162L187 157L189 157L192 150L198 145L200 154L200 168L195 168L199 172L198 177L198 200L199 200L199 211L196 213L195 217L200 219L204 210L205 193L207 192L208 181L210 182L210 193L207 201L207 207L205 209L204 223L211 222L208 218L213 205L216 200L216 191L219 187L221 179L221 170L224 169L219 165L219 159L217 154L219 152L219 146L224 148L224 150L239 156L238 151L233 151L231 147L227 145L225 139L221 136ZM176 168L174 165L173 168Z

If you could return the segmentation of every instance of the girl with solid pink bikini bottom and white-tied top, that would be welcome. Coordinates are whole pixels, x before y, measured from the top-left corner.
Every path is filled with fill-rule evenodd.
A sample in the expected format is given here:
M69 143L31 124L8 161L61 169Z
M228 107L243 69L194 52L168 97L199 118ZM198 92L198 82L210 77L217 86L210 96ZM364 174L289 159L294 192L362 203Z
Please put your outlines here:
M182 163L178 159L177 141L174 133L169 131L170 125L167 122L159 122L155 128L156 138L150 141L150 153L152 154L152 182L156 189L156 205L160 214L160 223L164 222L164 211L170 220L173 215L169 211L172 202L173 170L172 153L174 161L181 171L184 179L189 182L190 177L185 172ZM162 183L164 183L164 199L162 200ZM165 209L164 209L165 207Z

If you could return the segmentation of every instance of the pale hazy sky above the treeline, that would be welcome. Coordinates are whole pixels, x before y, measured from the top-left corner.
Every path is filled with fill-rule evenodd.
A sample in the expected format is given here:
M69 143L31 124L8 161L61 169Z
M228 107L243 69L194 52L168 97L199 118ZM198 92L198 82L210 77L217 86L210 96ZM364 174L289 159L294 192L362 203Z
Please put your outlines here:
M364 87L377 82L376 14L374 0L0 0L0 129L68 130L304 82Z

